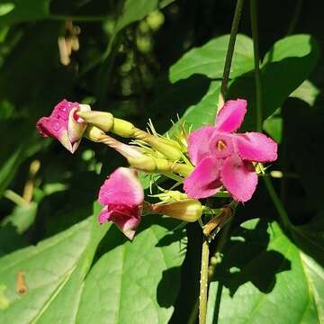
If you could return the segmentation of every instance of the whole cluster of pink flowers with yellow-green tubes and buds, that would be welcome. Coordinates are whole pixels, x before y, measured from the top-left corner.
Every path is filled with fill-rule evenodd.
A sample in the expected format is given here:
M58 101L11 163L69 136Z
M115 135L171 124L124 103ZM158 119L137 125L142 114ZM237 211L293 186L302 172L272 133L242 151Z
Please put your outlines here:
M242 99L225 103L214 126L187 133L183 125L168 135L139 130L129 121L110 112L92 111L89 105L63 100L49 117L37 122L43 137L58 139L71 153L82 137L103 143L126 157L130 167L119 167L103 183L98 200L103 210L100 224L112 221L132 239L146 214L162 214L183 221L200 220L211 210L199 199L219 193L233 202L247 202L257 187L258 163L275 161L277 145L259 132L236 133L247 112ZM133 139L132 145L114 139L107 132ZM165 175L184 185L184 193L162 190L155 196L160 202L144 201L144 190L137 171Z

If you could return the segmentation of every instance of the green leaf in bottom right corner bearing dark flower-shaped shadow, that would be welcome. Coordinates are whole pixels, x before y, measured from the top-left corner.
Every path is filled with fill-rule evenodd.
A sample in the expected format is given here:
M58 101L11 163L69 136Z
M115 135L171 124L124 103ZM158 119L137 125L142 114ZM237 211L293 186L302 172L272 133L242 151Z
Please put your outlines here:
M277 223L248 220L211 283L208 323L321 323L323 268ZM233 306L234 305L234 306Z

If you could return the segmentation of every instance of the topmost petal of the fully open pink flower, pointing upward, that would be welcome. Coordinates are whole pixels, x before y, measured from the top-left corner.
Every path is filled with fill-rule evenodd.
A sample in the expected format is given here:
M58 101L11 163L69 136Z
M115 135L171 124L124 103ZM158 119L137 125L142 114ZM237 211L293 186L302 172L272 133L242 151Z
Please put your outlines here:
M247 101L244 99L229 100L216 116L215 127L219 131L238 130L247 112Z

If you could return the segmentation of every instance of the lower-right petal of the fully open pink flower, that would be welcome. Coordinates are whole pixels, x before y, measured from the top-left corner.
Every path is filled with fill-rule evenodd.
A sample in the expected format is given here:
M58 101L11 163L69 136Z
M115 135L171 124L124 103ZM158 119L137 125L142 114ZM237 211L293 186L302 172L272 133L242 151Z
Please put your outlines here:
M247 202L257 188L257 173L251 162L237 154L227 157L221 169L221 182L238 202Z

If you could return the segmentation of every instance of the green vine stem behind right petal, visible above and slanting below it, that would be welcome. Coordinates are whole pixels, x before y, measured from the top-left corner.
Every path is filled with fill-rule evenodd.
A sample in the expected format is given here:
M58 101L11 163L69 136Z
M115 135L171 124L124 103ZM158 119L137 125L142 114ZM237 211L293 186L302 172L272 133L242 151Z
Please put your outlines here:
M262 83L260 71L260 59L258 53L258 34L257 34L257 3L256 0L250 0L250 14L251 14L251 29L253 39L253 51L255 62L255 78L256 78L256 103L257 103L257 131L262 131ZM284 204L280 200L278 194L275 192L274 184L269 176L264 177L266 189L271 200L275 204L275 209L278 212L280 219L287 229L292 228L292 223L289 220L288 214L284 209Z

